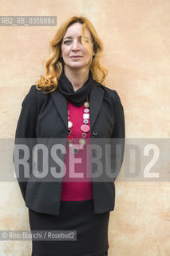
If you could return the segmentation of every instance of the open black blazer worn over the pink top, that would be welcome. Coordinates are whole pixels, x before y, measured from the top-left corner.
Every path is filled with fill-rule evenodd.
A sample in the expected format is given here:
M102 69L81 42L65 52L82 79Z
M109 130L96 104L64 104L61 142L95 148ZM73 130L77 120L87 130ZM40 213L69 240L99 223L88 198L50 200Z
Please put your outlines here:
M116 90L111 90L94 82L89 94L91 138L120 138L121 164L125 148L125 116L121 100ZM22 111L18 119L15 145L18 138L67 138L67 100L55 90L43 94L36 86L31 86L22 102ZM123 140L121 139L123 138ZM92 152L92 156L95 151ZM63 154L61 155L62 158ZM111 152L112 169L115 169L115 150ZM63 159L63 158L62 158ZM32 172L30 158L30 174ZM92 172L97 172L92 166ZM121 165L117 168L117 174ZM22 172L22 166L19 167ZM115 171L115 170L114 170ZM22 174L21 174L22 175ZM115 186L111 182L93 182L94 213L101 214L114 210ZM31 179L31 176L30 176ZM19 181L26 206L45 214L60 214L61 182L25 182Z

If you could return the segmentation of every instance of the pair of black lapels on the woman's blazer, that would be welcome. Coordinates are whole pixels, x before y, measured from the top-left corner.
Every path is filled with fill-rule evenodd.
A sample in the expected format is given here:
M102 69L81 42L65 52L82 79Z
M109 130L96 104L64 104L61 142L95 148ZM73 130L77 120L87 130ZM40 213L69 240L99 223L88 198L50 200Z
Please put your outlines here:
M63 122L65 123L66 130L68 129L68 114L67 114L67 99L61 94L59 90L54 90L52 93L52 98L55 106ZM97 114L101 109L101 103L104 97L104 90L101 88L100 84L95 82L93 88L89 94L89 111L90 111L90 129L93 129L94 122L96 121Z

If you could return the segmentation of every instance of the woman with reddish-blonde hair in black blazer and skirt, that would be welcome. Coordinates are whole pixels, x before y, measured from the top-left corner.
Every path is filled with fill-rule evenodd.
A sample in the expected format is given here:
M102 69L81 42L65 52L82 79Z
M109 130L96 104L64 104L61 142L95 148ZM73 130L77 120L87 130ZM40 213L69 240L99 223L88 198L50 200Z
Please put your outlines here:
M117 175L111 182L100 179L100 168L89 158L97 157L98 151L87 146L94 138L104 138L104 143L106 138L117 138L122 163L123 106L117 92L103 84L107 75L101 64L103 46L87 18L69 18L50 46L53 53L46 62L46 75L31 86L22 102L15 144L19 138L66 139L65 154L60 154L66 171L57 182L35 182L30 158L32 176L18 182L29 208L31 230L76 230L77 240L33 241L32 256L108 255L109 213L114 209ZM110 155L114 170L115 152L113 148ZM76 158L81 162L73 166ZM55 168L58 174L59 165ZM121 164L117 174L120 169Z

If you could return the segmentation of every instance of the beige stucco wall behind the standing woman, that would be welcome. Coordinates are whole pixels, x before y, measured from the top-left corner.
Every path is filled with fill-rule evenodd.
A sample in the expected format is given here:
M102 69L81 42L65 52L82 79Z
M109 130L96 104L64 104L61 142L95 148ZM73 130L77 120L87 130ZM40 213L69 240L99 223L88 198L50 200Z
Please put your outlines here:
M106 84L117 90L125 109L126 137L169 137L168 0L1 0L0 4L1 15L53 15L58 25L75 14L89 18L104 42ZM56 30L55 26L0 27L1 138L14 138L22 99L44 73L42 61ZM6 157L10 159L8 152ZM168 182L116 182L116 189L109 256L169 256ZM29 230L18 184L1 182L0 195L0 230ZM0 242L1 256L29 256L30 251L30 241Z

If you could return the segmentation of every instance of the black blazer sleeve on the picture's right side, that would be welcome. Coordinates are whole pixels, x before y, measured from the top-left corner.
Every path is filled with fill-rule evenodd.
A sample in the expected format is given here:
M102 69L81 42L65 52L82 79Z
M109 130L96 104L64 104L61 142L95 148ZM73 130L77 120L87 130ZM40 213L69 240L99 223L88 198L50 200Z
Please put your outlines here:
M125 153L125 114L121 104L121 98L114 90L115 103L113 106L114 127L111 137L111 165L113 169L113 181L116 180L122 166Z

